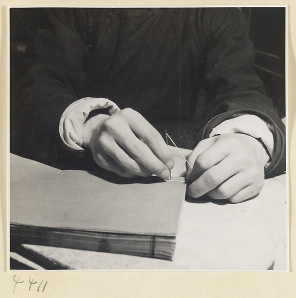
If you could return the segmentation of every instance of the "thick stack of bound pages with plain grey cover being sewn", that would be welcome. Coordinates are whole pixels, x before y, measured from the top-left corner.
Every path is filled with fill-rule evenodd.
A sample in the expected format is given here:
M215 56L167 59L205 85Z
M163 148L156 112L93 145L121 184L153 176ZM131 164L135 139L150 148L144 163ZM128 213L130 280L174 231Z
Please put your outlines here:
M61 171L11 154L11 245L39 244L171 260L186 191L184 178L174 182L154 176L115 177Z

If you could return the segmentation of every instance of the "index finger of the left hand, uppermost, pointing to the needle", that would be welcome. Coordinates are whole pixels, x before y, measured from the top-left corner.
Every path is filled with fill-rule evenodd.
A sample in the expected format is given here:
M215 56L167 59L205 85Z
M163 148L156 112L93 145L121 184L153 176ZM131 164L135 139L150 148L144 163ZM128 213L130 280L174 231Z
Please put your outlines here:
M174 167L174 159L160 133L138 112L132 109L124 109L122 112L128 113L127 119L132 131L142 138L155 156L161 160L168 169L172 169Z

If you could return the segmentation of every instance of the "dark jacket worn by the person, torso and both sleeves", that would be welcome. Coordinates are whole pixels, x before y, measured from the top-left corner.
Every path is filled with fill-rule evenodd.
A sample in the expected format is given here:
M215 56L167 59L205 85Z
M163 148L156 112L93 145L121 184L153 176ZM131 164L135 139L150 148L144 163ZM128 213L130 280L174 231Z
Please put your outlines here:
M93 167L61 145L63 111L105 97L151 123L190 122L200 88L207 106L196 143L235 114L272 126L266 177L285 170L285 126L253 70L248 23L238 8L52 8L35 37L36 62L12 95L11 152L60 168Z

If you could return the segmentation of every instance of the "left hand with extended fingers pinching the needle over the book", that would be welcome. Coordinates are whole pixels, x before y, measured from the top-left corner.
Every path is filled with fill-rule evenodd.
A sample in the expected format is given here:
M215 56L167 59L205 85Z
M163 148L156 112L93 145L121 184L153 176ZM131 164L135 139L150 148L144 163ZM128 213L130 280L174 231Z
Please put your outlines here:
M92 150L100 167L122 177L155 174L165 179L174 166L158 131L130 108L90 118L84 125L83 145Z

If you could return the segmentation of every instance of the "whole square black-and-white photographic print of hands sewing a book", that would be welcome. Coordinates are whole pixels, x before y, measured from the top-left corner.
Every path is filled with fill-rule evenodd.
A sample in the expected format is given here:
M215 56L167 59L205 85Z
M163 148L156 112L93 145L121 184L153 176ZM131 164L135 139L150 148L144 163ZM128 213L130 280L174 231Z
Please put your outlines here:
M286 24L11 6L9 270L288 271Z

